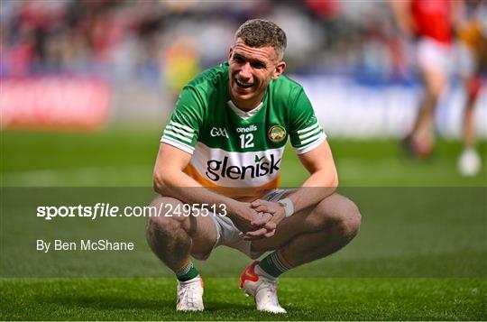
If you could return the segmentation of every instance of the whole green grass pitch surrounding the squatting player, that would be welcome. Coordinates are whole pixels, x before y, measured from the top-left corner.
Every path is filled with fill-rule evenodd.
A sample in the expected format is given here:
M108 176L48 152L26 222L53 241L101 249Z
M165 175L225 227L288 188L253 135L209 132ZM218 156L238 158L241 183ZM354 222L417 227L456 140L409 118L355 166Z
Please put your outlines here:
M159 136L158 132L129 131L5 132L1 144L2 187L149 187ZM341 186L363 209L363 228L343 251L289 271L280 279L280 302L289 314L255 311L253 300L243 296L237 281L250 261L225 248L216 250L207 263L197 264L206 283L207 310L203 313L175 312L176 282L147 247L130 261L74 257L69 268L72 276L96 276L89 272L90 267L99 272L98 276L119 276L104 271L104 265L117 262L129 268L120 276L152 277L35 277L35 271L42 268L36 265L49 266L51 261L15 253L15 238L37 233L25 228L28 215L22 211L15 219L6 216L5 202L10 200L2 193L1 262L12 265L0 266L4 277L0 280L0 318L487 319L487 201L482 197L487 186L486 144L480 145L482 173L462 178L455 168L459 143L440 142L431 160L415 161L404 158L394 141L330 140ZM283 186L298 186L306 178L306 171L291 151L282 167ZM402 201L394 198L397 191L404 197ZM117 225L121 225L115 226L119 234L124 234L123 229L127 234L139 229ZM45 233L50 233L47 225L41 230L44 227ZM76 231L64 229L63 234ZM143 244L143 235L138 238ZM52 270L48 276L66 276L56 267Z

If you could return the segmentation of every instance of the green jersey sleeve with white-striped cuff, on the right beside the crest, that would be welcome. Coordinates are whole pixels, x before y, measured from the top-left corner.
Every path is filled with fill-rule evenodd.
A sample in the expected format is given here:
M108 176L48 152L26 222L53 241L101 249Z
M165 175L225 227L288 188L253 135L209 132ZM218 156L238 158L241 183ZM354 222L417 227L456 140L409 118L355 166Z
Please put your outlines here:
M309 152L326 140L326 134L302 88L289 111L289 124L290 142L298 154Z

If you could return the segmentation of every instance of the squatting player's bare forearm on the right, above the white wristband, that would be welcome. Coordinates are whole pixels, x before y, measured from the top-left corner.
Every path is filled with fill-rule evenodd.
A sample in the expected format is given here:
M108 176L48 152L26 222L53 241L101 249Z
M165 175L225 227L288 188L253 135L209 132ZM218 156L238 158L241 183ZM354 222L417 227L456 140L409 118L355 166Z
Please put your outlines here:
M338 176L335 169L313 173L300 189L289 196L294 212L317 205L318 202L333 194L336 187L338 187Z

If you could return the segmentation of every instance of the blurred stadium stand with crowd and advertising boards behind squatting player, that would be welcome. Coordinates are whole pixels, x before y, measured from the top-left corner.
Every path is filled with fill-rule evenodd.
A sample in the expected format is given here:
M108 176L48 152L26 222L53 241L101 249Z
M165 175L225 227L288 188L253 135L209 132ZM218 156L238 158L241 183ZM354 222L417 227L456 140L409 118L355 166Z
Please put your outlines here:
M18 121L25 115L19 108L47 113L49 104L32 106L45 97L58 97L58 105L72 107L74 115L83 115L76 102L84 97L91 123L65 118L65 127L98 128L107 122L162 128L180 87L225 61L238 25L255 17L269 18L287 32L287 73L306 88L327 133L401 136L415 114L418 80L387 2L2 0L1 5L3 128L50 122L59 127L54 116L39 126ZM437 114L438 130L446 136L460 133L464 100L452 79ZM19 82L25 85L21 94ZM64 86L39 90L53 82ZM98 89L87 93L78 86ZM484 90L476 111L483 138L486 101Z

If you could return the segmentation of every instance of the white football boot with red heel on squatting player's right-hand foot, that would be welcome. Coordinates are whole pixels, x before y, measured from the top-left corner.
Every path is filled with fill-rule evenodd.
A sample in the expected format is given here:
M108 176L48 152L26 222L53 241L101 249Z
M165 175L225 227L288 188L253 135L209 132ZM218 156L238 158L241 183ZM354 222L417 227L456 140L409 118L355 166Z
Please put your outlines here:
M277 281L270 281L255 271L253 262L240 275L240 288L245 290L247 296L252 296L257 304L257 310L271 313L287 313L281 308L277 299Z

